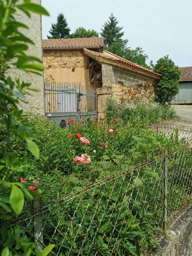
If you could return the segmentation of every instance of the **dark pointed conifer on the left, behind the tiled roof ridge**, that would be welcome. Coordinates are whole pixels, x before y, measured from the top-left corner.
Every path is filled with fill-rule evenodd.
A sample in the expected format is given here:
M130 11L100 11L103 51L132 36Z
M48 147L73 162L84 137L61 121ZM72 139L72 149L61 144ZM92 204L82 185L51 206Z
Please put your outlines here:
M57 16L57 22L55 24L51 23L51 28L49 31L51 36L47 36L47 38L68 38L70 31L71 30L68 27L65 16L63 15L63 13L59 13L59 15Z

